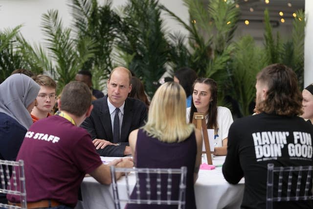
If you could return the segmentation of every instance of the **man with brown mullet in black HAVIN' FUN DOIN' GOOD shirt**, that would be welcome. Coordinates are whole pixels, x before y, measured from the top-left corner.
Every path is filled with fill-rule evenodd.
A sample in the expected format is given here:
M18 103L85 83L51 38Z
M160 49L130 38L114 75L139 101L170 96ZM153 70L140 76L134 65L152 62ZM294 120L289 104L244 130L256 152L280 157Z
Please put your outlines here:
M242 208L265 209L268 163L313 165L313 128L298 117L302 114L302 95L291 69L281 64L270 65L257 75L255 87L259 114L238 119L231 125L223 174L230 184L245 177ZM310 193L311 188L312 184ZM283 187L282 196L286 192ZM274 203L274 209L312 207L311 201Z

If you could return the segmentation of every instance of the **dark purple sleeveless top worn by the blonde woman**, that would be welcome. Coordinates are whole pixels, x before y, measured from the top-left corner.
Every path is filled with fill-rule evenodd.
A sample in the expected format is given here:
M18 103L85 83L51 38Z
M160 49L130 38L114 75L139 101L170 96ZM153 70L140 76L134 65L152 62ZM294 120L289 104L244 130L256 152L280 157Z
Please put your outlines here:
M187 179L186 179L186 207L185 209L196 209L195 193L194 193L194 168L197 155L197 142L195 132L193 132L187 139L179 143L167 143L162 142L156 138L147 136L147 133L143 129L139 129L137 142L136 142L136 154L135 163L136 167L144 168L180 168L181 166L187 167ZM142 177L143 182L144 177ZM139 176L140 179L140 176ZM165 184L163 179L161 181L161 191L166 199L166 179ZM153 181L152 185L153 185ZM145 185L143 183L143 185ZM164 185L164 186L163 186ZM153 189L154 186L151 186ZM173 176L172 184L172 196L173 199L178 199L179 195L179 178ZM140 186L141 194L146 194L145 186ZM156 199L156 191L152 190L151 199ZM135 198L133 192L132 197ZM177 205L132 205L129 204L127 209L177 209Z

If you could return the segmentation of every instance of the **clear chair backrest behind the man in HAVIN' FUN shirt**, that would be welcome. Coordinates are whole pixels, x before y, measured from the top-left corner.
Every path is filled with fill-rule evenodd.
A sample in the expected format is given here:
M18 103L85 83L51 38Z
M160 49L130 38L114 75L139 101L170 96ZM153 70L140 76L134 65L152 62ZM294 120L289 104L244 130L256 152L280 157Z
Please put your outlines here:
M266 208L272 209L273 202L313 200L313 195L309 191L312 187L312 170L311 165L275 167L273 163L268 163ZM277 195L275 196L274 173L278 173ZM283 188L287 188L287 191L283 193L286 194L285 196L282 196Z

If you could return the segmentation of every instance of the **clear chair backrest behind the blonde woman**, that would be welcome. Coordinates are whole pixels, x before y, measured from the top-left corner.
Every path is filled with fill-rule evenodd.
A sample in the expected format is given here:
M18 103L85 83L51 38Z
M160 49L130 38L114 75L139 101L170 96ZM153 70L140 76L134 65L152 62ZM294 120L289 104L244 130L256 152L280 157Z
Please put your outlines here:
M120 195L118 192L118 185L115 178L116 172L125 173L125 177L118 180L121 183L125 180L126 188L123 188L123 192L126 192L126 197ZM144 175L144 178L142 178ZM177 205L178 209L185 208L185 191L186 191L186 175L187 167L181 168L116 168L111 166L111 177L112 177L112 189L115 209L120 209L120 202L128 204L157 204L157 205ZM135 181L134 181L135 178ZM179 179L178 198L173 197L172 184L173 178ZM140 180L139 180L140 179ZM154 183L152 183L154 181ZM163 184L161 184L163 183ZM166 184L164 184L166 183ZM140 194L144 186L145 194ZM152 187L154 186L154 187ZM134 191L133 191L134 187ZM163 187L163 188L162 188ZM166 188L166 199L162 199ZM156 198L153 191L156 191ZM131 193L135 192L136 198L131 197ZM122 192L120 192L122 193ZM119 196L120 195L120 196ZM125 198L121 197L124 196ZM143 197L144 196L144 197ZM173 199L174 198L174 199Z

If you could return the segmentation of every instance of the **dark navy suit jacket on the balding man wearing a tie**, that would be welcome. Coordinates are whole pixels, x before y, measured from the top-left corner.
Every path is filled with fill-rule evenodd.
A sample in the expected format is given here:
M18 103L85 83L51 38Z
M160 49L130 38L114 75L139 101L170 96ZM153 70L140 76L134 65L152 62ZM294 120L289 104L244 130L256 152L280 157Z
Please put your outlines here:
M89 117L85 119L81 127L85 128L93 139L105 139L113 142L113 132L111 116L108 106L108 96L97 99L92 102L93 110ZM129 134L143 126L147 119L146 105L134 98L125 100L123 122L121 127L120 141L121 145L108 145L97 152L101 156L122 157L124 156L125 146L128 146Z

